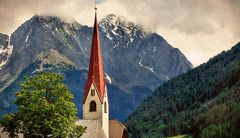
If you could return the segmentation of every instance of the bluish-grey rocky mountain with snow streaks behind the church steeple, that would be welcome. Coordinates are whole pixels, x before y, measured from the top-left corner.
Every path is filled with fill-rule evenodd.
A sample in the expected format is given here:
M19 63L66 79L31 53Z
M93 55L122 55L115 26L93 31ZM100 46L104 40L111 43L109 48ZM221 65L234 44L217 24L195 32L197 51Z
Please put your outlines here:
M160 35L123 17L107 16L99 30L111 118L124 120L153 89L192 68ZM64 75L81 116L91 38L92 27L59 17L34 16L23 23L11 35L12 55L0 69L0 115L16 110L12 100L17 82L43 65Z

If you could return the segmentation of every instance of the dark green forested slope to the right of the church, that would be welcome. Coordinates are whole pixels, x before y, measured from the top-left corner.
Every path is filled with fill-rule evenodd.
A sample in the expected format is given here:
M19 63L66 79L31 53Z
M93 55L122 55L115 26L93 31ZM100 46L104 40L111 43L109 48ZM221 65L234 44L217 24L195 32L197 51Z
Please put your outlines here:
M132 137L239 137L240 43L175 77L127 119Z

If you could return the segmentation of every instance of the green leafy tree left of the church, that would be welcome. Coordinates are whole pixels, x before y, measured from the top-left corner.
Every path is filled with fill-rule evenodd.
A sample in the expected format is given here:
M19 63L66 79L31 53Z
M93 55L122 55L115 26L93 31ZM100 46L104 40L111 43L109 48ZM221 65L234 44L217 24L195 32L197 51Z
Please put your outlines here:
M85 128L75 126L77 109L73 95L59 74L41 72L26 77L16 93L18 112L4 116L2 125L10 137L67 137L82 135Z

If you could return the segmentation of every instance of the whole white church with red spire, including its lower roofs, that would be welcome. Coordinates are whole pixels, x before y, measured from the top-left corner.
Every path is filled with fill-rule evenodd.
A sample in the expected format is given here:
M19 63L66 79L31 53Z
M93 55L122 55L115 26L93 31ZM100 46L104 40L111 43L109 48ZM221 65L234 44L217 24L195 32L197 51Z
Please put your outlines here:
M119 120L109 120L109 99L102 65L97 8L88 78L83 96L83 119L76 124L87 127L83 138L128 138L127 128Z

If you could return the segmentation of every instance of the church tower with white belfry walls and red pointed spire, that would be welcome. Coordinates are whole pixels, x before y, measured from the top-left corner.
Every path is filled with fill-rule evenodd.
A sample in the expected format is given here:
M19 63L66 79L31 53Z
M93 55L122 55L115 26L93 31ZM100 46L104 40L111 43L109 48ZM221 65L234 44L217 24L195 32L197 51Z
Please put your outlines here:
M83 97L83 119L99 120L106 137L109 138L108 94L102 66L97 8L95 8L88 79Z

